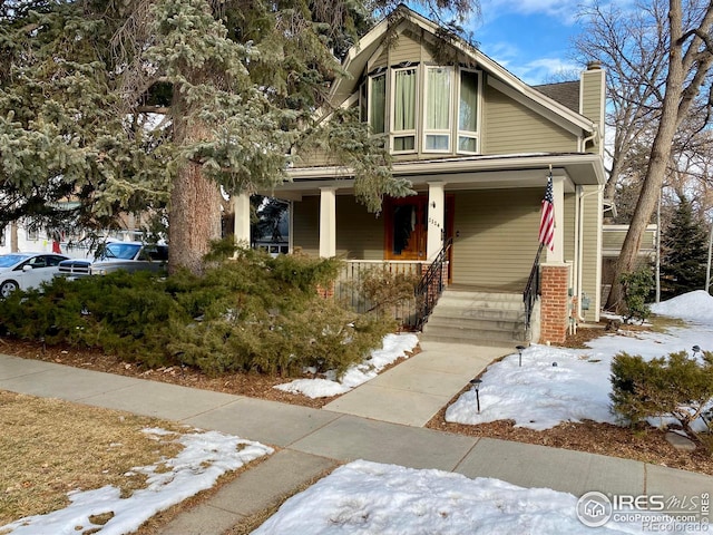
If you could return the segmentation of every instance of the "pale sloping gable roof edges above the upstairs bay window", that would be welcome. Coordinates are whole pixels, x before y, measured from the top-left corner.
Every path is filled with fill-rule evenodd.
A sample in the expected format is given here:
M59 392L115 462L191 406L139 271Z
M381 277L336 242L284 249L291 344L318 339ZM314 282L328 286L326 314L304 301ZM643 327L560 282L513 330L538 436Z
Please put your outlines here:
M392 26L394 21L395 26ZM331 96L334 105L341 106L348 103L348 99L356 91L360 77L367 69L370 58L389 46L388 37L390 32L402 33L409 27L422 30L433 38L439 38L438 36L442 33L438 25L400 4L391 16L382 19L346 54L342 66L351 76L338 78L333 84ZM576 108L572 108L569 104L563 104L547 93L528 86L463 39L455 36L450 40L450 46L487 72L489 75L488 84L494 88L516 98L528 108L570 132L594 132L594 123L578 113L578 97Z

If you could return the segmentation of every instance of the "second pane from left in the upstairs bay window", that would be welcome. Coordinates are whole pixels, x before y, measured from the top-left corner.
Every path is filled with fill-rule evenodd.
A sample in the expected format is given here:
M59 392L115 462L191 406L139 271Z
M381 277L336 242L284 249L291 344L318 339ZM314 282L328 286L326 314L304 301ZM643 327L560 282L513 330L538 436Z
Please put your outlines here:
M391 117L392 149L394 153L416 150L416 67L392 71L393 111Z

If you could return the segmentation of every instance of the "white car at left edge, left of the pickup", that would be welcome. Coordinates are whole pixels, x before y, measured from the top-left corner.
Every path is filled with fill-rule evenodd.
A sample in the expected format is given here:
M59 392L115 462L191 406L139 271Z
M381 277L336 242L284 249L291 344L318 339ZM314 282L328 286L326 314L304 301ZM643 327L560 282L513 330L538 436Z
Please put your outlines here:
M37 288L51 281L59 263L68 256L48 253L10 253L0 255L0 296L7 298L16 290Z

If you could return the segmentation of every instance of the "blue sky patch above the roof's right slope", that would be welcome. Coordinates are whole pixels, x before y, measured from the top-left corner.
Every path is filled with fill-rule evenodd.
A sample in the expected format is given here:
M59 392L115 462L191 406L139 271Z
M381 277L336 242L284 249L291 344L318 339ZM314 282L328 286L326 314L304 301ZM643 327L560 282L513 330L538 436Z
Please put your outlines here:
M527 84L546 84L558 71L579 71L570 40L579 33L579 2L481 0L482 17L468 25L480 50ZM569 77L572 79L572 77Z

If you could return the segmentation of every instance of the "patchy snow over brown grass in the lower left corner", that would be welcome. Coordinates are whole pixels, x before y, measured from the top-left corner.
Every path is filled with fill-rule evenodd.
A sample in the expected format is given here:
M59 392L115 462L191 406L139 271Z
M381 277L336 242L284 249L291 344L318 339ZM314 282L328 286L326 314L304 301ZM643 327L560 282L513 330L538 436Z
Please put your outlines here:
M145 432L157 438L173 435L163 429L146 429ZM217 431L180 435L176 441L184 446L177 457L134 468L133 471L146 474L148 479L146 488L135 490L130 497L121 498L120 489L113 486L77 490L69 494L71 504L68 507L0 526L0 533L6 533L3 529L12 535L131 533L156 513L211 488L226 471L274 451L260 442ZM160 471L157 470L159 466ZM165 467L169 469L164 471ZM90 517L104 514L114 515L104 526L90 521Z

